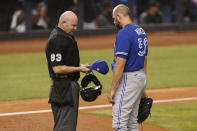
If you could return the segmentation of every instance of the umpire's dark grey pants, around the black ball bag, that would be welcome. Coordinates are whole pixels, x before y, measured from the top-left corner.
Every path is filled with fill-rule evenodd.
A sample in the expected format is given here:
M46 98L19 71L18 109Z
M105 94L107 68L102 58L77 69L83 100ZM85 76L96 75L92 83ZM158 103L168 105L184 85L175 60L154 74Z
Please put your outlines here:
M74 106L51 104L54 117L54 131L76 131L78 106L79 106L79 84L71 82Z

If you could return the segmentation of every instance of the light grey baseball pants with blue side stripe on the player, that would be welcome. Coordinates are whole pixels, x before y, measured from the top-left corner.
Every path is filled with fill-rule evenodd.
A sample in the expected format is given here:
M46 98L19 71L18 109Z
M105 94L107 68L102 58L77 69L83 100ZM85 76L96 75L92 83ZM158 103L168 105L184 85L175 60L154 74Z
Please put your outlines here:
M114 131L138 131L138 108L146 80L142 69L123 73L116 88L115 104L112 105Z

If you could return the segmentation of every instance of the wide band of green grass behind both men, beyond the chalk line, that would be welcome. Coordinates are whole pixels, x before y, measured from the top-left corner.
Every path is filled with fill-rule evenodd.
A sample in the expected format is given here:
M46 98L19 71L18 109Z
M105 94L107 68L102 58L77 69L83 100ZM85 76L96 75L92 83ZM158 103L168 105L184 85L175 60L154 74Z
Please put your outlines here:
M150 47L148 89L197 86L196 50L197 45ZM108 63L110 71L107 75L94 72L102 82L104 92L108 91L113 49L82 50L80 56L82 64L97 59ZM44 53L0 55L0 100L48 97L49 86Z

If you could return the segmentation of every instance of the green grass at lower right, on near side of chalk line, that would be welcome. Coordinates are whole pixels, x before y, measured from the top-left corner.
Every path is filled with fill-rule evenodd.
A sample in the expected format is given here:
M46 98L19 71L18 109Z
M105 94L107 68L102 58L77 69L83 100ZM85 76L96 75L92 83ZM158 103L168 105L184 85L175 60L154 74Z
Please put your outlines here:
M197 103L181 103L170 105L156 105L145 123L157 125L169 131L196 131L197 130ZM111 110L99 110L90 114L112 116Z

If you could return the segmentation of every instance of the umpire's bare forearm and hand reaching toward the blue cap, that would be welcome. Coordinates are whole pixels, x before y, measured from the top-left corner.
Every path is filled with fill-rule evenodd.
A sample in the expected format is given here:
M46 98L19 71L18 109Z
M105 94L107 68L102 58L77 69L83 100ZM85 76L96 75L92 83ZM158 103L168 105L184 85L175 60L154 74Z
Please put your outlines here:
M66 65L58 65L53 66L53 71L56 74L69 74L73 72L89 72L90 69L87 68L87 65L80 65L79 67L73 67L73 66L66 66Z

